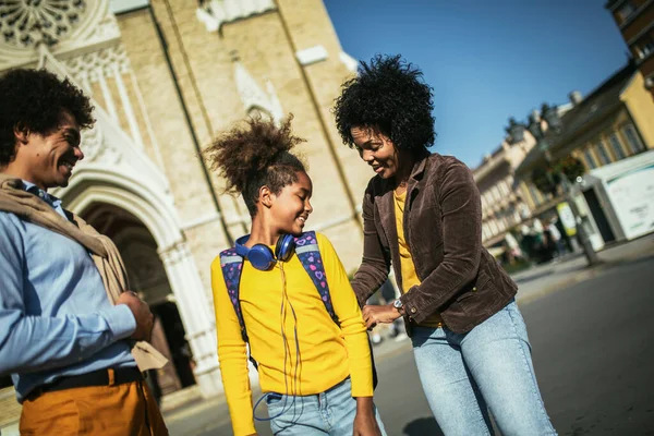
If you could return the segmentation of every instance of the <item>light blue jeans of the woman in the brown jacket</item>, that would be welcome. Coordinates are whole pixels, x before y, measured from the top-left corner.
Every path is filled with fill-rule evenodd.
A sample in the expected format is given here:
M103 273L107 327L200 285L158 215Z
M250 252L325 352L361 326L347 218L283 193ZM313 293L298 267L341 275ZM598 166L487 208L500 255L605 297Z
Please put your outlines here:
M493 435L488 409L504 436L556 435L514 301L464 335L413 329L425 396L446 436Z

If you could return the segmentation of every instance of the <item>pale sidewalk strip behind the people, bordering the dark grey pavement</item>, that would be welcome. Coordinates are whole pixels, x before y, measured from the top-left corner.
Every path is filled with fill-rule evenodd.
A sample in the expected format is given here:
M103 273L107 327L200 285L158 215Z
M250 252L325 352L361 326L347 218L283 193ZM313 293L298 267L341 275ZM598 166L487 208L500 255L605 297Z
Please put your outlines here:
M584 255L578 253L566 256L561 261L538 265L512 275L511 277L519 287L516 300L520 304L526 304L550 292L564 290L571 284L602 275L625 263L652 262L654 261L654 234L606 247L598 255L602 264L592 268L588 267ZM404 335L398 337L398 340L388 337L387 332L384 332L383 337L384 341L374 347L376 364L389 356L411 350L411 341ZM261 393L258 387L253 387L253 393L258 398ZM175 423L185 417L214 408L227 407L222 395L208 400L192 398L187 402L170 405L172 407L164 407L164 416L171 434L178 434L173 433L178 429Z

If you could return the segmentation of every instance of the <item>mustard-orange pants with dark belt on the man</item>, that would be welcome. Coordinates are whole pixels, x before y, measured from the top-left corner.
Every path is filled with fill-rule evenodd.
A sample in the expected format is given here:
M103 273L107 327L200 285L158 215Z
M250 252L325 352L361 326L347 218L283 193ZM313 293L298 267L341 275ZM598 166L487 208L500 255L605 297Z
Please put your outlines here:
M167 436L145 383L45 392L23 402L21 435Z

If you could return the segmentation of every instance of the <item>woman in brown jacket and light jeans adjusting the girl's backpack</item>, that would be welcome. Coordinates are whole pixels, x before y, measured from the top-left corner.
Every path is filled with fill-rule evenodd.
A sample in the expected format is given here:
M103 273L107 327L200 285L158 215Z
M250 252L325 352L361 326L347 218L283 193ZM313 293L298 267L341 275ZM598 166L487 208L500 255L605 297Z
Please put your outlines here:
M404 317L423 389L446 435L556 434L531 360L516 283L482 246L472 172L432 154L432 88L399 56L362 62L334 109L338 131L376 173L363 199L359 302L392 265L402 295L363 310L368 328Z

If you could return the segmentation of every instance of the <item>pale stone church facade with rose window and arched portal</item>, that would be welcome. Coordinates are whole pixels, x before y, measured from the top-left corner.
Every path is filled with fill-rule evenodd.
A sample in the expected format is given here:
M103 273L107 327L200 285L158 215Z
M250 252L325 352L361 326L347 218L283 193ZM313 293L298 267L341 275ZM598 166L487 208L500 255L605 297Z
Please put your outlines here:
M250 217L201 158L219 132L247 116L293 113L314 180L307 228L356 268L372 172L330 113L355 65L320 0L0 2L0 74L46 68L93 98L86 158L52 194L119 246L171 361L158 372L165 395L222 390L209 265Z

